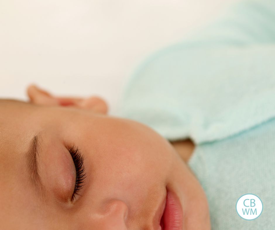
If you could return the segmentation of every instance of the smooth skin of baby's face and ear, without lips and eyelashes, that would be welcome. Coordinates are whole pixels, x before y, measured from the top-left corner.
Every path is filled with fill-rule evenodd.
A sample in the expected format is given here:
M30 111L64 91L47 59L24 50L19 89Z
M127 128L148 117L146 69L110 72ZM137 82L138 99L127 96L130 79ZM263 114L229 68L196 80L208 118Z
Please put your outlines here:
M1 229L158 230L166 189L181 202L182 229L210 229L204 191L165 138L107 115L99 97L27 92L30 102L0 100ZM78 194L72 146L84 158Z

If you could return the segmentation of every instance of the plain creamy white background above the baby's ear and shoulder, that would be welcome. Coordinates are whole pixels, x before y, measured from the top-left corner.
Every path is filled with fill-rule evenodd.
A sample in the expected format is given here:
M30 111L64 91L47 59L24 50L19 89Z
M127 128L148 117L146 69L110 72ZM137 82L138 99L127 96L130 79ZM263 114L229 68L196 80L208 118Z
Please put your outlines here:
M147 55L213 21L238 0L0 0L0 97L35 83L59 96L98 95L116 114Z

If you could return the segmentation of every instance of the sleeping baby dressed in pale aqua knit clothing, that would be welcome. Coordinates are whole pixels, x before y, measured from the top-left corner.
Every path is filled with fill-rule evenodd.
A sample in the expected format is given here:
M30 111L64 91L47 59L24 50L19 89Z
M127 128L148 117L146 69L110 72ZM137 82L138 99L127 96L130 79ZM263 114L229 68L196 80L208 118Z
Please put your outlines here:
M274 20L243 1L157 51L117 116L33 84L0 100L0 228L275 229Z

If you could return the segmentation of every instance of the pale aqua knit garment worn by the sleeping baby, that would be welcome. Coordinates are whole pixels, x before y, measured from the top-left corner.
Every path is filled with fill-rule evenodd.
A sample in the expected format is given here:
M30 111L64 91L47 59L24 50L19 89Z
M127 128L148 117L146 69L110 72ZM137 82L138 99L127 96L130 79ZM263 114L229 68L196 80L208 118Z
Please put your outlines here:
M118 116L196 143L189 165L212 229L275 229L275 1L243 1L148 57L126 84ZM248 193L263 203L252 221L236 212Z

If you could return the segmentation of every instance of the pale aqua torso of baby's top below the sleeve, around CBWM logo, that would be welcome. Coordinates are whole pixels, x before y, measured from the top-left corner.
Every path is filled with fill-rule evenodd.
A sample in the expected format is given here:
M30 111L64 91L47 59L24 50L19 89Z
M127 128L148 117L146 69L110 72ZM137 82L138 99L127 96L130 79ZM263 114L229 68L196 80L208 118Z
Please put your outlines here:
M275 119L199 144L189 166L207 195L212 229L275 229ZM262 214L252 221L236 212L238 198L248 193L263 203Z

